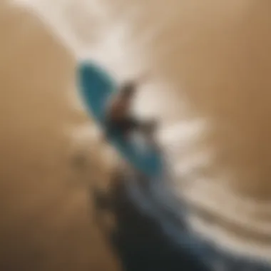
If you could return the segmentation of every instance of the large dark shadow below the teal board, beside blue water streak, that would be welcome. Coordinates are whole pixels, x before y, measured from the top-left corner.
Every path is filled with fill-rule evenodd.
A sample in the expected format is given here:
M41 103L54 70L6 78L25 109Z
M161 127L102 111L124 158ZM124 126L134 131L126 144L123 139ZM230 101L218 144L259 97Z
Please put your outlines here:
M93 199L98 220L104 211L112 213L116 220L113 229L103 223L101 228L120 257L124 270L209 270L193 251L185 245L175 244L155 218L138 208L129 196L127 180L122 174L118 173L115 177L111 189L106 193L94 190ZM142 179L139 181L142 183ZM144 190L144 185L141 188Z

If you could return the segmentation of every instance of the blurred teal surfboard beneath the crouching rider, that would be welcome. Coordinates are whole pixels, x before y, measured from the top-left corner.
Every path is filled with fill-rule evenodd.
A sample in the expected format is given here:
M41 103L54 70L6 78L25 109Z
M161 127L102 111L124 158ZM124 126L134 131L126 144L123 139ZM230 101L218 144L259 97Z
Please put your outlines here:
M95 118L101 128L106 131L106 106L108 100L118 90L113 78L101 68L91 62L82 62L78 65L78 85L83 102L88 112ZM108 134L108 141L116 147L119 153L133 168L140 170L149 177L160 175L162 158L155 148L148 151L140 150L136 140L127 140L118 132Z

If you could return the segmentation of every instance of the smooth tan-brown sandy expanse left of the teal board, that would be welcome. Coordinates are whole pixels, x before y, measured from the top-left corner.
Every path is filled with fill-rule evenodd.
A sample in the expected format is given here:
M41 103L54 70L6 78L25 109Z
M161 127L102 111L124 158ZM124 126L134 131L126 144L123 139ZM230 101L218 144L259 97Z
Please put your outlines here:
M65 132L88 123L68 101L75 61L5 1L0 36L0 270L117 270L89 204L97 158L86 150L76 164Z

